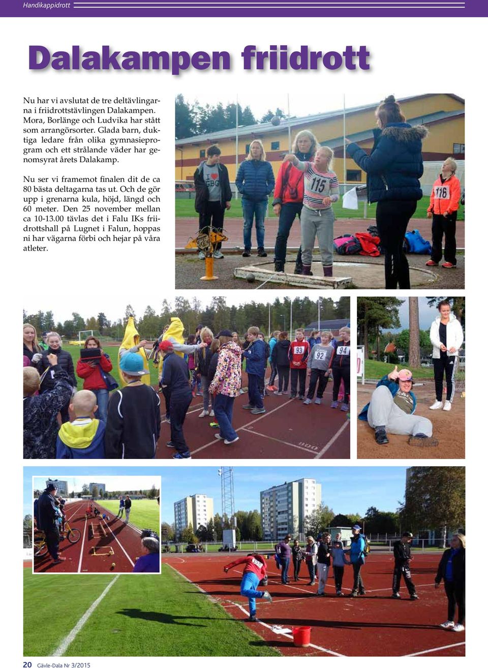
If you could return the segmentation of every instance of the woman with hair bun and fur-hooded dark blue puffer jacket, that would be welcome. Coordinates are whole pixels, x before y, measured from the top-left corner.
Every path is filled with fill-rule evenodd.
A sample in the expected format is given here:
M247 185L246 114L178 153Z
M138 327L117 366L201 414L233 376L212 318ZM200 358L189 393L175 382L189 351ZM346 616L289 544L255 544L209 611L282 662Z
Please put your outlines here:
M424 126L405 122L393 95L375 112L378 129L371 154L346 140L348 155L367 173L369 202L377 204L377 228L385 248L385 283L387 289L410 289L409 263L403 252L403 240L410 218L422 198L419 178L423 174L422 140Z

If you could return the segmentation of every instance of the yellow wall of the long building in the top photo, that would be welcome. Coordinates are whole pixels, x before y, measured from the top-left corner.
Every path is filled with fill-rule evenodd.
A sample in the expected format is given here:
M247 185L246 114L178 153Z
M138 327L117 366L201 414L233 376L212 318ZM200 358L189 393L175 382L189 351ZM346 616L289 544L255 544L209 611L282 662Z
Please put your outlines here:
M434 114L439 111L455 111L463 110L464 105L462 102L451 98L447 94L435 94L432 96L426 96L419 100L411 100L408 102L402 103L402 111L405 114L407 120L409 118L417 118L419 116ZM432 153L443 153L451 154L453 152L453 144L464 143L464 118L455 118L446 122L439 122L429 126L429 136L423 144L424 152ZM346 136L355 134L357 132L364 132L365 130L371 130L375 127L375 116L373 110L365 110L364 112L358 112L357 114L351 114L346 117ZM291 140L300 130L310 130L318 138L321 143L327 142L327 140L336 139L342 137L342 116L330 120L323 120L320 122L308 124L304 122L303 126L300 128L292 128ZM239 154L239 164L244 160L246 156L246 145L250 144L252 140L256 137L253 137L251 134L244 134L245 130L242 128L242 136L238 140L238 154ZM259 138L264 145L264 150L267 153L272 151L271 142L280 142L278 150L281 154L288 152L288 128L286 122L283 126L277 129L277 131L269 132L265 135L260 135ZM219 142L216 142L218 147L222 151L223 158L232 158L230 162L225 160L226 167L229 172L229 178L231 181L236 179L236 164L235 164L235 155L236 155L236 139L226 138ZM204 158L200 158L200 150L206 150L208 148L208 142L202 141L195 144L187 144L182 146L182 150L176 148L175 152L175 178L176 180L188 180L193 178L193 174L196 170L198 164ZM362 148L371 148L373 146L373 140L370 142L362 142ZM187 161L191 160L192 164L181 164L181 160ZM270 163L273 168L273 172L276 175L281 164L281 160L270 160ZM334 172L338 175L340 182L344 180L344 160L342 158L335 158ZM347 170L357 170L358 166L350 158L346 159L346 169ZM361 174L361 182L365 182L366 175L364 172Z

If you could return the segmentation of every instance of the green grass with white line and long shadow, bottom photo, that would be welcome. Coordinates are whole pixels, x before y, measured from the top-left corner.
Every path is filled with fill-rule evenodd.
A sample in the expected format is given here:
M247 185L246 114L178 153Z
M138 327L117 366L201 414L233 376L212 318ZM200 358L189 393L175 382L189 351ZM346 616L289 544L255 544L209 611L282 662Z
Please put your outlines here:
M111 576L35 576L24 568L23 655L52 656ZM189 596L189 594L191 594ZM39 624L55 601L56 614ZM119 576L65 656L278 656L248 627L163 564L162 575Z

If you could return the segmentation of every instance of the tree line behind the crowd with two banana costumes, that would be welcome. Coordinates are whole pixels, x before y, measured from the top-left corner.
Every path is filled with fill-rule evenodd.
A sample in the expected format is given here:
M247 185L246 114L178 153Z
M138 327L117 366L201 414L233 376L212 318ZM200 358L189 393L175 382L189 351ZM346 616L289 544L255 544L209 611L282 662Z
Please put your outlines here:
M159 313L158 313L159 311ZM269 306L267 303L252 301L246 304L229 306L225 297L213 297L210 305L204 307L198 299L186 299L176 297L173 302L164 299L160 309L154 309L148 305L142 314L136 313L132 305L128 304L124 316L115 321L109 321L105 313L98 313L84 319L79 313L73 311L71 318L61 322L55 322L53 311L37 311L27 313L23 311L24 323L33 325L39 336L43 331L57 331L61 337L77 339L78 332L92 329L101 336L110 337L120 341L124 336L124 329L129 317L132 315L136 321L136 327L145 339L154 339L160 335L164 325L170 323L171 317L179 317L185 325L185 335L194 333L197 325L210 327L214 334L220 329L231 329L243 334L251 325L260 327L264 333L268 333L268 311L270 312L271 331L282 330L290 327L290 298L276 298ZM349 297L340 297L334 303L330 297L320 299L320 319L330 320L349 317ZM317 301L308 297L297 297L292 302L293 328L306 327L317 320Z

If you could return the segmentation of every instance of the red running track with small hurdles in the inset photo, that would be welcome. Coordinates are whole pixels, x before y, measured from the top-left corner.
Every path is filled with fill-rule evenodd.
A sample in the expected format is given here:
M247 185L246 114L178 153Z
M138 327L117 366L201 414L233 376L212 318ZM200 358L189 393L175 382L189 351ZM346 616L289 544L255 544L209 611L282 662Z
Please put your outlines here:
M87 501L77 501L66 504L66 519L71 528L81 531L81 538L76 543L70 543L67 538L59 543L59 556L66 557L60 564L53 564L49 554L34 558L35 573L129 573L132 572L136 558L141 556L141 532L131 524L124 524L113 513L100 504L94 503L101 513L109 517L108 521L97 518L85 519ZM95 527L95 535L91 536L89 525ZM105 528L106 538L97 530L97 525ZM96 552L106 553L110 548L113 555L94 556ZM115 564L111 570L111 564Z

